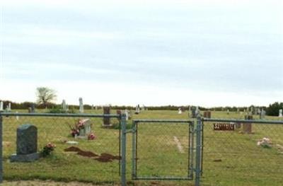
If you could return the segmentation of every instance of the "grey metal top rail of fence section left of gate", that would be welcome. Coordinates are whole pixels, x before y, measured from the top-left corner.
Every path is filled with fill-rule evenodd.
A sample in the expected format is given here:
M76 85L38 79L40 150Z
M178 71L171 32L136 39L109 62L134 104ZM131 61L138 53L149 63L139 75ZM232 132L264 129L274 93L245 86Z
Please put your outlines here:
M0 112L0 116L34 116L34 117L116 117L120 115L103 115L103 114L68 114L68 113L16 113Z

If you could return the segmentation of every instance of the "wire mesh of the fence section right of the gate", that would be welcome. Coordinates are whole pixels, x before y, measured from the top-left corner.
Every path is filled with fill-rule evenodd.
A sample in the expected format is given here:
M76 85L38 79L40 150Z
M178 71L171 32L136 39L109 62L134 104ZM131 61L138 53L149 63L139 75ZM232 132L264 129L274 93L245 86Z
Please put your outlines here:
M282 185L283 124L204 122L207 185Z

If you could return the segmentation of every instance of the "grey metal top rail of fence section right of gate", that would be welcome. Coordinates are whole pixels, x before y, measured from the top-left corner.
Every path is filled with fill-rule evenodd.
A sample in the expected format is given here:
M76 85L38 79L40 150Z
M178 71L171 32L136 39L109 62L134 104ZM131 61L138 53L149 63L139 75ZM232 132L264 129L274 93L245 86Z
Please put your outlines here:
M219 119L219 118L202 118L203 122L241 122L241 123L258 123L258 124L283 124L279 120L237 120L237 119Z

